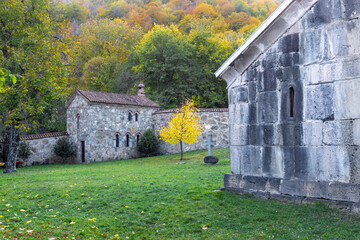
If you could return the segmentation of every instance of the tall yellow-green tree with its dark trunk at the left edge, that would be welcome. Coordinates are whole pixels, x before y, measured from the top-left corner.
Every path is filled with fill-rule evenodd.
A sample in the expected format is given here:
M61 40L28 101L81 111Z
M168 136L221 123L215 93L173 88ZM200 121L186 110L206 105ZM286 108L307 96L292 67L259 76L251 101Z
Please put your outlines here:
M0 93L5 173L16 171L20 129L36 124L45 110L67 97L67 71L61 61L66 46L49 12L48 0L0 2L0 68L17 76L15 84Z

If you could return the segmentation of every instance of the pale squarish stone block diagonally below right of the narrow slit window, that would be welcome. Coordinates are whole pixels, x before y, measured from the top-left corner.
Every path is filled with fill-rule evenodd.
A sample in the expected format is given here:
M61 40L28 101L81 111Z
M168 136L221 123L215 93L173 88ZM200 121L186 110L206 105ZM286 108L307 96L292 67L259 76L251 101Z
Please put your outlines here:
M302 145L322 145L322 121L311 121L302 123Z

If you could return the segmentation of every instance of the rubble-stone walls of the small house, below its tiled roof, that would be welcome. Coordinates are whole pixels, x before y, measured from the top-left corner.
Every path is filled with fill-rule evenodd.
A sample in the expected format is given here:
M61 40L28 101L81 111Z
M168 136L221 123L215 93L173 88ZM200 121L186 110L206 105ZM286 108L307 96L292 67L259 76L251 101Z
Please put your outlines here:
M138 106L89 104L77 95L67 109L67 130L77 146L77 161L82 160L82 141L85 144L85 162L138 157L136 136L152 128L152 113L156 110ZM129 112L131 121L128 120ZM135 113L138 114L138 121L135 121ZM119 147L116 147L116 135L119 135ZM129 146L126 146L127 135Z

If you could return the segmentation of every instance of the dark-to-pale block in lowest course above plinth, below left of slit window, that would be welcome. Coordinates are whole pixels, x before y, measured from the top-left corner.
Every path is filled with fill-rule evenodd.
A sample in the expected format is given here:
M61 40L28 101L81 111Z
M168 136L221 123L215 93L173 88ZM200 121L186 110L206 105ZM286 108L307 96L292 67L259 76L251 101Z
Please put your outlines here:
M284 177L284 154L281 147L264 147L263 175L267 177Z

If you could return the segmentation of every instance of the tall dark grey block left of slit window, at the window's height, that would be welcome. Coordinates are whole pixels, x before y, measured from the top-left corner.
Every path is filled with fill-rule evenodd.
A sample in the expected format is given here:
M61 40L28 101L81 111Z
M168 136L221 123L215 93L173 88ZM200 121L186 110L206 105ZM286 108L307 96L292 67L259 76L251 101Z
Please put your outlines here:
M278 92L259 94L258 119L261 123L275 123L278 121Z

